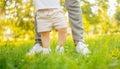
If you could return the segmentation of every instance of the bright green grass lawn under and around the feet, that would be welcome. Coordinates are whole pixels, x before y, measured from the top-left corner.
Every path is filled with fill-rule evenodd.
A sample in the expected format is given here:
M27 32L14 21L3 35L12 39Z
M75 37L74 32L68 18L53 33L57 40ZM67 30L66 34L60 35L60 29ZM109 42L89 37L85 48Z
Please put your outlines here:
M75 52L71 38L65 44L65 53L54 52L56 39L51 41L53 53L26 56L34 41L1 42L0 69L120 69L120 35L103 35L85 38L91 54Z

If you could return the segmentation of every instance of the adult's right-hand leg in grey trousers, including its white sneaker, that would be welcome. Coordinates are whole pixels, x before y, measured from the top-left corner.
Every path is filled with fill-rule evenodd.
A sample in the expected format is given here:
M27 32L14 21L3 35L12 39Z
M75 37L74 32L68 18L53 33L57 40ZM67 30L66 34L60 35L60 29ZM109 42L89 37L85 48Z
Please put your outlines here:
M76 51L87 55L90 53L87 45L84 43L84 28L82 25L82 11L80 9L80 0L66 0L66 7L69 13L70 24L73 39L76 45Z

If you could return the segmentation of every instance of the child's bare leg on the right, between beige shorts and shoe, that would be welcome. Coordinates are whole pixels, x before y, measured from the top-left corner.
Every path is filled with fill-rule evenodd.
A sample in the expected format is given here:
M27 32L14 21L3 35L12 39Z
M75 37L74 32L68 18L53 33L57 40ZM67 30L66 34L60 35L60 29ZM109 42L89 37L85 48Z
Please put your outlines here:
M59 46L64 46L66 41L67 28L58 29L58 44Z

